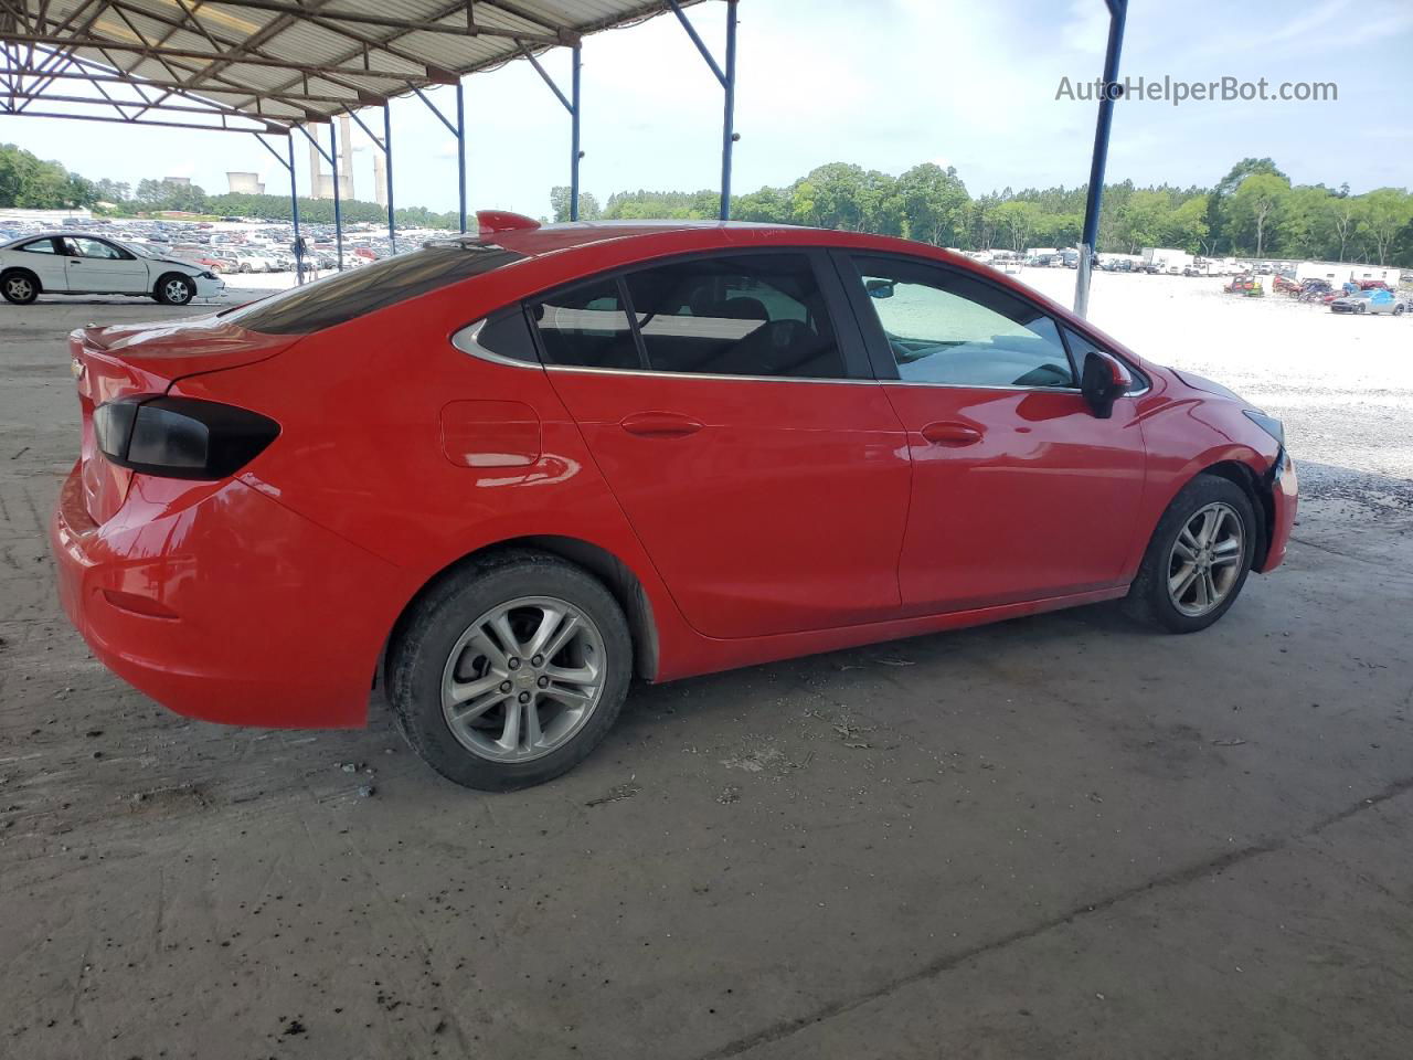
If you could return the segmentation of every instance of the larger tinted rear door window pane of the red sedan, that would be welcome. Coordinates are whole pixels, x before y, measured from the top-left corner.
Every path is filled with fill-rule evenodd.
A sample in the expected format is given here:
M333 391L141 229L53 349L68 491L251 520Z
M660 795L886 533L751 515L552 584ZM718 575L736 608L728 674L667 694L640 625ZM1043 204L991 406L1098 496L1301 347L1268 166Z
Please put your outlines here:
M673 261L627 276L656 372L841 379L844 355L805 254Z

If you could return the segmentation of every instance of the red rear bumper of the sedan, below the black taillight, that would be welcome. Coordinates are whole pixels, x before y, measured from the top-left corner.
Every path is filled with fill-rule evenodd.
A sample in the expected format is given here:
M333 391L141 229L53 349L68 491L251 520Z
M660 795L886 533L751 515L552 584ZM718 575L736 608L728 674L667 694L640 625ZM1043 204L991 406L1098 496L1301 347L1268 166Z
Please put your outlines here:
M396 568L239 482L136 478L97 526L79 469L51 523L64 611L161 705L235 725L357 726Z

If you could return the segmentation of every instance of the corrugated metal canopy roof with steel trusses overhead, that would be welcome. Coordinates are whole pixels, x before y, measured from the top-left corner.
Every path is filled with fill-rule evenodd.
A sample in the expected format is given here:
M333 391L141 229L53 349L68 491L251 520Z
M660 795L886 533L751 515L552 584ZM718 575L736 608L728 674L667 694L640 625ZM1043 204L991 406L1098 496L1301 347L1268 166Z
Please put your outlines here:
M698 0L680 0L681 6ZM287 133L667 0L0 0L0 114ZM86 93L85 93L86 90Z

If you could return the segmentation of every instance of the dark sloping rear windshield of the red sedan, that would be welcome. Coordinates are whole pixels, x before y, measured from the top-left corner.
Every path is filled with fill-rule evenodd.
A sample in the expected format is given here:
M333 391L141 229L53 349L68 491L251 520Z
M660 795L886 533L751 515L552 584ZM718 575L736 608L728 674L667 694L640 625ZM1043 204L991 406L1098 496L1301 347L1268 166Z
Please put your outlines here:
M308 335L438 287L489 273L521 257L524 254L493 243L448 240L346 273L335 273L220 315L242 328L266 335Z

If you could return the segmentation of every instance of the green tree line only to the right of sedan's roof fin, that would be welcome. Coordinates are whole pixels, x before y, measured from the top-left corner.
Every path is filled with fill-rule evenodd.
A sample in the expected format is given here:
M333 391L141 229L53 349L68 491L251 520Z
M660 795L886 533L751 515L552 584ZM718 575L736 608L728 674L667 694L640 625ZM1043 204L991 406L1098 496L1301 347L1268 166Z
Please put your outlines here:
M786 225L901 236L962 250L1071 247L1084 228L1087 185L1005 188L972 198L955 167L914 165L900 177L829 163L780 188L733 195L731 216ZM569 215L569 189L550 196L555 220ZM579 198L579 218L715 218L715 191L633 191L602 206ZM1291 185L1270 158L1243 158L1212 188L1106 184L1099 253L1135 254L1146 246L1207 257L1365 260L1413 267L1413 195L1379 188Z

